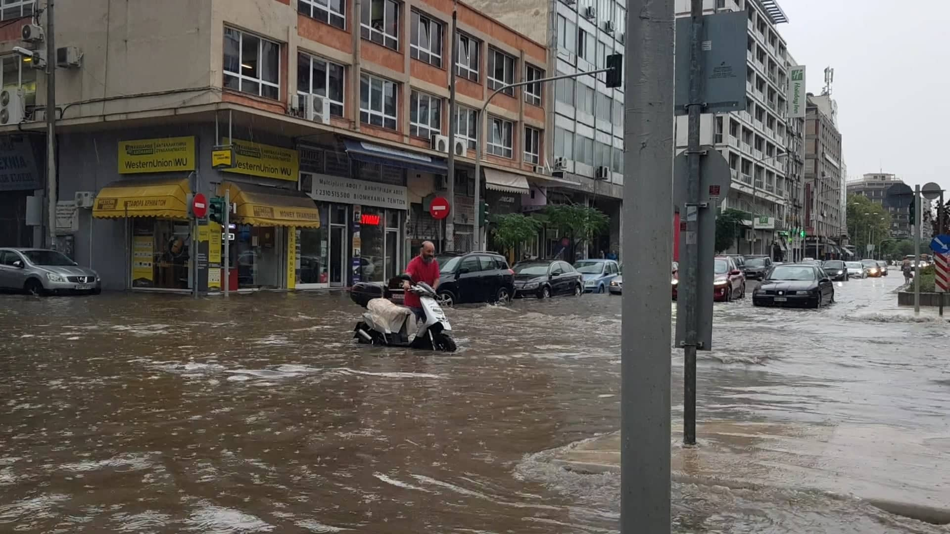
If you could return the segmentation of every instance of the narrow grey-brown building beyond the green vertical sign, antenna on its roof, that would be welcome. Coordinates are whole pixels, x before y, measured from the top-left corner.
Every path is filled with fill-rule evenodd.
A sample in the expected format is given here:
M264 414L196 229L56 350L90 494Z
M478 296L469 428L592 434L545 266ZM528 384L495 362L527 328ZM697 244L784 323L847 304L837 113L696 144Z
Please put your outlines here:
M830 96L808 94L805 131L805 196L809 257L847 256L842 207L841 133L837 104Z

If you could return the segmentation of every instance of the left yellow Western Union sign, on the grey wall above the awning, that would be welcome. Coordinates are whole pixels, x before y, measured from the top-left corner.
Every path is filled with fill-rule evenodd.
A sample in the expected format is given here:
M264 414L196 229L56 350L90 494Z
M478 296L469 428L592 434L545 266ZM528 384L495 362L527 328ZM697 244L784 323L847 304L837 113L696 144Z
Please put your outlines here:
M119 174L195 170L195 137L119 142Z

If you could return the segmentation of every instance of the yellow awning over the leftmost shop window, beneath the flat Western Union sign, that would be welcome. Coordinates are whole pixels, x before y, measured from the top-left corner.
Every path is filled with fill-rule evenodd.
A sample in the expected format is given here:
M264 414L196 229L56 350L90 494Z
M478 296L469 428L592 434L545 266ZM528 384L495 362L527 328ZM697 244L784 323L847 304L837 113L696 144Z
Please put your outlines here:
M113 181L96 195L92 217L188 219L189 189L187 178Z

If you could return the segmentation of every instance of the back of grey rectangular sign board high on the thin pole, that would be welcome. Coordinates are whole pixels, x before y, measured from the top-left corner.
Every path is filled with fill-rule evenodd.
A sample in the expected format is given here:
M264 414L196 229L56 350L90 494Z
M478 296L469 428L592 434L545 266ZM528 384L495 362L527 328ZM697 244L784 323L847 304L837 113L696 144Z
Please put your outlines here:
M749 18L744 10L703 16L700 35L703 113L746 109L746 57ZM675 113L690 104L690 17L676 19Z

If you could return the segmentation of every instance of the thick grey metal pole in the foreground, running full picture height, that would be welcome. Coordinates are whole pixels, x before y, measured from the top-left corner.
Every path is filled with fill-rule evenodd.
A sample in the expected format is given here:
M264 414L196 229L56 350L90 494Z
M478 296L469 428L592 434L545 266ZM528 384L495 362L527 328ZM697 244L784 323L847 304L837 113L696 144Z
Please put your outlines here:
M670 533L674 0L628 0L624 90L620 532ZM677 229L678 231L678 229Z

